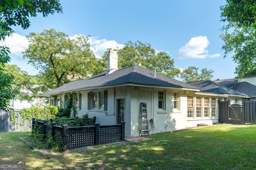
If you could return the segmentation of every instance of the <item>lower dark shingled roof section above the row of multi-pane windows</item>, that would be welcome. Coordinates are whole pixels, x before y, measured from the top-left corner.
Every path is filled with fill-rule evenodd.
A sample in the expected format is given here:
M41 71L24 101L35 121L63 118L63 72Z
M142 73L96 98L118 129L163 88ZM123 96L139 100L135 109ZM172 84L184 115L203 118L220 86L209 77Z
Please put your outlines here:
M221 94L221 95L247 96L243 92L230 89L226 86L222 86L221 84L210 81L210 80L188 82L188 84L199 88L201 92L209 92L212 94Z

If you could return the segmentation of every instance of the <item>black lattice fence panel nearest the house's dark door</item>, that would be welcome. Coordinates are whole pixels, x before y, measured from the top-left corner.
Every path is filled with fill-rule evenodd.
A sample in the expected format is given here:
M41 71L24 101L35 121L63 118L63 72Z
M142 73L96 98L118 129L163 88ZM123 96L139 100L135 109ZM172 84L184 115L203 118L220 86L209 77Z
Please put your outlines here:
M118 142L122 140L122 125L100 126L99 143Z

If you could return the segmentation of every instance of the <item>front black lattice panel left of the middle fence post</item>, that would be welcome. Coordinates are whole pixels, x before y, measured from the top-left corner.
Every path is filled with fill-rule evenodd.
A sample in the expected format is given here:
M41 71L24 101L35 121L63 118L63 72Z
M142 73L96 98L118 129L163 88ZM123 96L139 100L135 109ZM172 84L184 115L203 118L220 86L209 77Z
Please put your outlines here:
M67 148L78 148L94 145L95 126L68 128Z

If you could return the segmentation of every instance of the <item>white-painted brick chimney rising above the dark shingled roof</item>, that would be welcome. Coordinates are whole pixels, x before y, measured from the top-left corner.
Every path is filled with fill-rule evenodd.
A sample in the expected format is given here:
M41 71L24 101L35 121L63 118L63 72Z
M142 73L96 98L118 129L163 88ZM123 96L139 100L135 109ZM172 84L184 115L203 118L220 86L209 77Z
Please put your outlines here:
M108 64L107 64L107 74L111 74L118 70L118 56L115 50L110 49L108 51Z

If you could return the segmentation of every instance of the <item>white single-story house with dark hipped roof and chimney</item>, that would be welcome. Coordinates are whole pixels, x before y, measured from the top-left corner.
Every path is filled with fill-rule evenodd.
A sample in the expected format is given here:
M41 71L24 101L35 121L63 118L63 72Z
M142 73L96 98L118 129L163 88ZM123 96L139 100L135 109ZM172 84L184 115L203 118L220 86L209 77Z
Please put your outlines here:
M149 133L154 133L217 123L218 99L249 98L229 88L218 91L222 86L207 91L140 65L118 69L117 58L116 52L110 50L106 72L67 83L45 96L50 97L50 104L65 107L67 94L73 94L79 117L97 116L101 125L125 121L127 137L140 134L140 103L147 103Z

